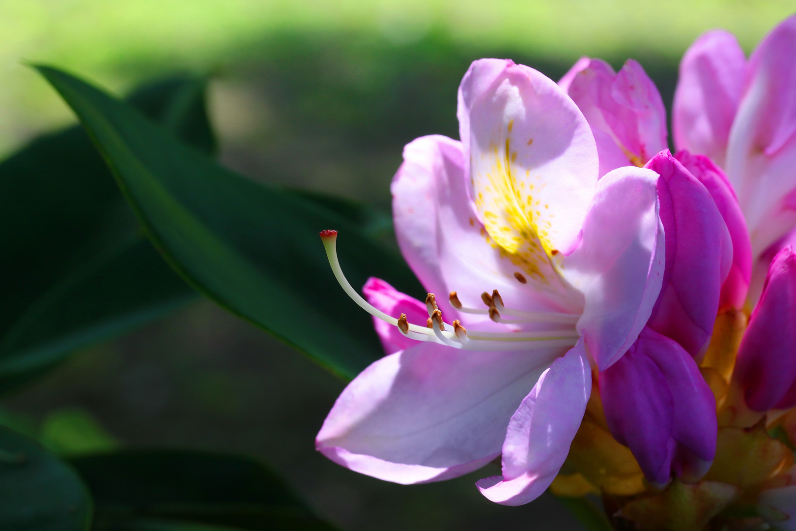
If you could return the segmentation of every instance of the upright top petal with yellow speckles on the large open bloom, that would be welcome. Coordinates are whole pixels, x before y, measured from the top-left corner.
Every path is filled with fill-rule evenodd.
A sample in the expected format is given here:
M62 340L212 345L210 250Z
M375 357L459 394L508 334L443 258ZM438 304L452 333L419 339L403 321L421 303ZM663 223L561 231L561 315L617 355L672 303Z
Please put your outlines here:
M501 266L507 277L520 272L529 291L551 304L569 299L574 310L579 301L560 283L551 257L578 243L597 182L594 137L548 77L505 61L497 76L489 68L490 83L482 83L479 62L462 81L459 110L470 123L465 150L478 219L508 259Z

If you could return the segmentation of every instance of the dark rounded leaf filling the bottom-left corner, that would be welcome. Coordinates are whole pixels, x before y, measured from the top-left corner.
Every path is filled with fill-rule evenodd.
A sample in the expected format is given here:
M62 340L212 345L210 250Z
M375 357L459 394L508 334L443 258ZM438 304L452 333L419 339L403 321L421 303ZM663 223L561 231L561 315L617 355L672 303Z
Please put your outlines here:
M0 427L0 529L81 531L91 519L91 498L72 467Z

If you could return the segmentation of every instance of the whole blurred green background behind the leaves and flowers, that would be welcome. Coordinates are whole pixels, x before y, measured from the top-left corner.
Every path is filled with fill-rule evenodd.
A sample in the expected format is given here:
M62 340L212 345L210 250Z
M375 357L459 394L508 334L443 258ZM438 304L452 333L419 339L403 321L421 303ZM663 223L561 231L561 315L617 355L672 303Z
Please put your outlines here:
M0 2L0 155L74 123L24 61L117 94L209 73L224 164L388 211L404 144L458 136L456 88L478 57L553 79L581 55L617 68L633 57L668 106L677 62L702 31L729 29L751 51L793 10L792 0ZM0 421L68 454L157 444L256 455L343 529L578 529L546 496L519 508L487 502L473 483L495 466L397 486L326 461L314 434L344 385L201 302L73 357L6 400Z

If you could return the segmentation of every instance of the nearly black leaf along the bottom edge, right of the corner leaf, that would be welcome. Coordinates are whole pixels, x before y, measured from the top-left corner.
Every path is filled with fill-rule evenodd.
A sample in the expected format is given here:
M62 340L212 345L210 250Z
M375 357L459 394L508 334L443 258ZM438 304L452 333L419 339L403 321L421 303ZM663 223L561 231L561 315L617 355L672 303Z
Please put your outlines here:
M72 459L94 497L95 529L334 529L278 476L237 455L124 451ZM201 528L197 528L201 529Z

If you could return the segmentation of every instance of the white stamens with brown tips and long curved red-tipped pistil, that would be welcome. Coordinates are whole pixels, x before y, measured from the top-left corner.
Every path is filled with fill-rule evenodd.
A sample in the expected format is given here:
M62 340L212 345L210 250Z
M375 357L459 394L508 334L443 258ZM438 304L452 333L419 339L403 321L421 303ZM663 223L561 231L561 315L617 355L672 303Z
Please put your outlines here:
M564 314L546 311L525 311L513 310L503 305L503 299L497 290L492 295L486 291L481 295L486 308L466 308L458 300L455 291L451 291L449 301L451 306L464 314L484 314L494 322L503 324L525 324L525 323L546 323L568 326L564 330L544 330L544 331L510 331L510 332L468 332L462 323L456 319L448 324L443 320L442 310L436 303L436 296L429 293L426 297L426 309L428 318L426 326L419 326L407 321L406 314L401 314L400 318L394 318L385 314L383 311L368 303L365 299L351 287L351 284L340 268L337 254L337 231L325 230L321 232L321 240L326 248L326 256L332 267L335 278L343 288L345 293L362 309L396 326L408 338L417 341L437 342L441 345L452 346L456 349L468 350L524 350L529 348L549 348L556 346L574 346L579 338L575 330L575 323L579 315ZM510 318L503 318L505 314ZM449 330L449 328L451 330Z

